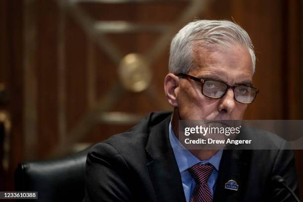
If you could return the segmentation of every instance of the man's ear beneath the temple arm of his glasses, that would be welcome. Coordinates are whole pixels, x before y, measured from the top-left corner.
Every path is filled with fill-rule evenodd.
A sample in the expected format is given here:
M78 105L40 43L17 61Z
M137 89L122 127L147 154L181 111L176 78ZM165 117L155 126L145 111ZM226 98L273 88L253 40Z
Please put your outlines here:
M167 101L173 107L178 107L177 94L179 90L180 79L178 76L169 73L165 76L164 79L164 92L166 95Z

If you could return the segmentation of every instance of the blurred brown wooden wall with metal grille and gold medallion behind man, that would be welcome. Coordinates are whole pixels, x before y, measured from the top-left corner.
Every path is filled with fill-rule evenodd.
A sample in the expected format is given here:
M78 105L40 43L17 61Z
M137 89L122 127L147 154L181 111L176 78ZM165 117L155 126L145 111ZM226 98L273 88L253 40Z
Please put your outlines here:
M229 19L251 36L260 94L245 119L303 119L302 10L301 0L0 0L0 191L14 190L18 162L171 110L170 40L194 19ZM303 191L302 151L296 160Z

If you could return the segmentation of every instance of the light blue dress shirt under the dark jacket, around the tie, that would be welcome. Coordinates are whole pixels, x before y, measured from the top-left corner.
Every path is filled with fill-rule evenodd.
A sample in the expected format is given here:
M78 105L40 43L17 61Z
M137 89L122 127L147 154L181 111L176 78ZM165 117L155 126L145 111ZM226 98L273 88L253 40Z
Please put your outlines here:
M197 163L202 163L202 164L210 163L214 167L214 169L207 181L208 187L209 187L211 195L213 197L213 193L215 191L215 187L217 184L216 182L217 182L217 178L218 178L219 164L221 161L223 151L219 150L211 158L206 159L206 160L200 160L194 154L192 154L187 149L185 149L185 147L183 145L181 145L181 143L179 142L179 140L177 139L177 137L175 136L175 134L172 130L171 123L169 123L168 134L169 134L169 141L170 141L172 150L175 154L175 158L177 160L177 164L178 164L179 171L181 174L182 185L183 185L186 202L191 201L191 198L192 198L195 186L196 186L196 182L195 182L194 178L192 177L192 175L189 173L189 171L187 169L192 167L193 165L196 165Z

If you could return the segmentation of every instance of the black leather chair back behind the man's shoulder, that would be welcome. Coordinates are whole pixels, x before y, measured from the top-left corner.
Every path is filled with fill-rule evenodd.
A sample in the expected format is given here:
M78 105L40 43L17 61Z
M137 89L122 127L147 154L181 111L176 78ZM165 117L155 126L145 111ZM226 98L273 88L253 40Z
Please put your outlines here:
M15 190L38 191L41 202L81 202L88 151L89 148L61 159L19 163L15 171Z

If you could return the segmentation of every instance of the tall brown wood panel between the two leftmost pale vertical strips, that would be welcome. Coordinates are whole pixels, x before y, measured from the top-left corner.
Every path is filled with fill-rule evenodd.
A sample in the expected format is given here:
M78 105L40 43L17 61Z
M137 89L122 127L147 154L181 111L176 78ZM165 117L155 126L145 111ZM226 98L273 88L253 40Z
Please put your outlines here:
M53 1L37 1L37 153L43 158L58 143L57 16Z

